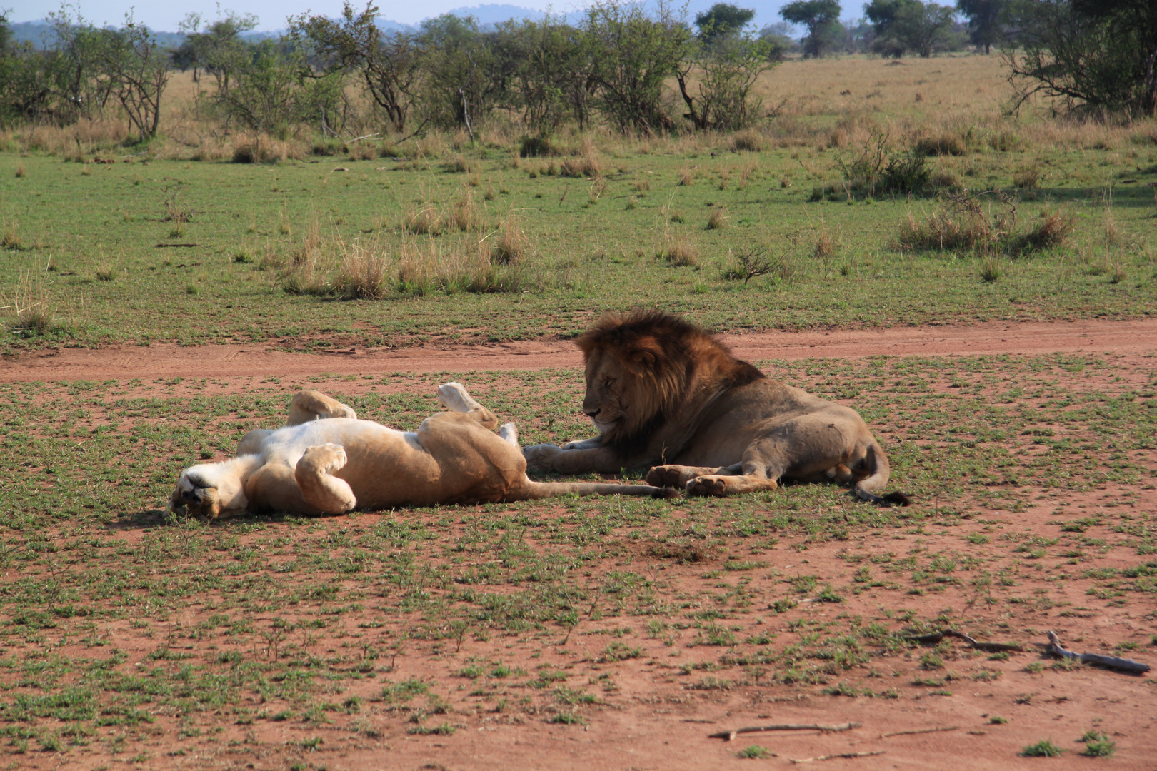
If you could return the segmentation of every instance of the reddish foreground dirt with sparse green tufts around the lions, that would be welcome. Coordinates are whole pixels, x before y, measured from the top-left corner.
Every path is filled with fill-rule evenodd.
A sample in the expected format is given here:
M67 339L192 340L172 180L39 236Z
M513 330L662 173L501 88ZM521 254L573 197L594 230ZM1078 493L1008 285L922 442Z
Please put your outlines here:
M433 408L436 372L509 365L455 377L528 436L580 438L581 381L469 350L419 351L399 377L334 355L270 370L238 356L216 376L5 365L20 403L2 440L32 451L6 455L31 491L0 492L23 506L0 543L0 751L29 769L743 769L883 753L809 765L1149 771L1154 674L1036 647L1053 629L1071 650L1157 663L1157 458L1130 425L1154 412L1157 359L1154 325L1134 324L731 340L870 413L916 494L907 510L798 485L209 527L165 517L175 469L223 458L293 388L408 425ZM577 364L558 346L533 366ZM206 353L172 350L182 366ZM864 359L880 354L894 358ZM69 522L69 505L88 518ZM1025 650L904 639L943 628ZM1081 755L1089 731L1112 759ZM1019 757L1046 739L1066 753ZM749 747L774 756L739 758Z

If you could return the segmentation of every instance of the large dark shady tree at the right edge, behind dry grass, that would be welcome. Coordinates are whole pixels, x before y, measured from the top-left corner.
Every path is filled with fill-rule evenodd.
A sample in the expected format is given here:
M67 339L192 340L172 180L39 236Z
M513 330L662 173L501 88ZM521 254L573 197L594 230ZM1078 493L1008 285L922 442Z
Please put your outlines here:
M1023 51L1007 54L1016 106L1041 94L1068 111L1157 113L1157 3L1023 0L1009 25Z

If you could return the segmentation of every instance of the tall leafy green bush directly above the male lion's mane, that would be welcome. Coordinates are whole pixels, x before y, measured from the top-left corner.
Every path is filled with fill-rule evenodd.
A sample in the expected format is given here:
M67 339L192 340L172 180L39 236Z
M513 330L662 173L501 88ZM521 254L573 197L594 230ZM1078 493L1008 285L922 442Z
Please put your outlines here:
M611 0L587 9L582 30L595 61L596 104L622 133L670 131L663 87L691 55L691 28L659 0L656 16Z

